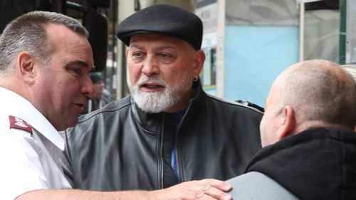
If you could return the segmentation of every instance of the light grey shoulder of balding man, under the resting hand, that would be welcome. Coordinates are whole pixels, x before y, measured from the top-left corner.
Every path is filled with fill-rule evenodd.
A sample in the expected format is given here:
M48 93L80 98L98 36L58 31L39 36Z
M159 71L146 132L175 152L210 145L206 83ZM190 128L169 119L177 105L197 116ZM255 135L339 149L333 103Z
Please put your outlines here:
M248 172L226 182L233 186L229 192L233 199L298 199L281 184L260 172Z

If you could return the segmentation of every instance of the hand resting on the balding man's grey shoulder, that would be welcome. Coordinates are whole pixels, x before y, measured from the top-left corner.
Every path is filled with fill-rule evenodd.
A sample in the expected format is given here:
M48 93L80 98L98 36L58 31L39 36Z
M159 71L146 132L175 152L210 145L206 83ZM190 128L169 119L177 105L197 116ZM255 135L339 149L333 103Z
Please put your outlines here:
M171 186L167 189L152 191L152 199L179 199L179 200L231 200L226 191L232 189L231 185L216 179L203 179L200 181L187 181Z

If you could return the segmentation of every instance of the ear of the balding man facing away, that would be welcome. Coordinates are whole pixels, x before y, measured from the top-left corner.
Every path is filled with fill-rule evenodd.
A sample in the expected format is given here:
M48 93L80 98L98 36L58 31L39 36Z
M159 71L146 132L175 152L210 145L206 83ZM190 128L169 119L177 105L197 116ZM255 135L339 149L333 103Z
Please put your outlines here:
M280 120L281 125L278 128L277 136L279 140L282 140L283 138L294 134L293 130L295 129L296 123L293 107L290 105L283 107Z

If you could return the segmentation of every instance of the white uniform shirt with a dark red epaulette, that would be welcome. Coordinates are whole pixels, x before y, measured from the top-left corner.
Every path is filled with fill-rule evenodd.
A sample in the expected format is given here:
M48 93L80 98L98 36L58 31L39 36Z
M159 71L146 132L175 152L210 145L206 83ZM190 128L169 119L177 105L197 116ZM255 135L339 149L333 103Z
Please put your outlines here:
M25 98L1 87L0 97L0 199L70 188L59 164L61 135Z

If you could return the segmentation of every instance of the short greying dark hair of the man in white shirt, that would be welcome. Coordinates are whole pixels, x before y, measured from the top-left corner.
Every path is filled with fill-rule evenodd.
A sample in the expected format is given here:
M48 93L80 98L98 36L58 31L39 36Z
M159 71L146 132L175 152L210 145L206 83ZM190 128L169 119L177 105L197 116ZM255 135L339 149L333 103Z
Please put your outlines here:
M75 19L48 11L33 11L14 19L0 36L0 73L8 73L21 51L28 51L41 63L50 61L53 47L48 42L46 25L58 23L88 38L88 31Z

